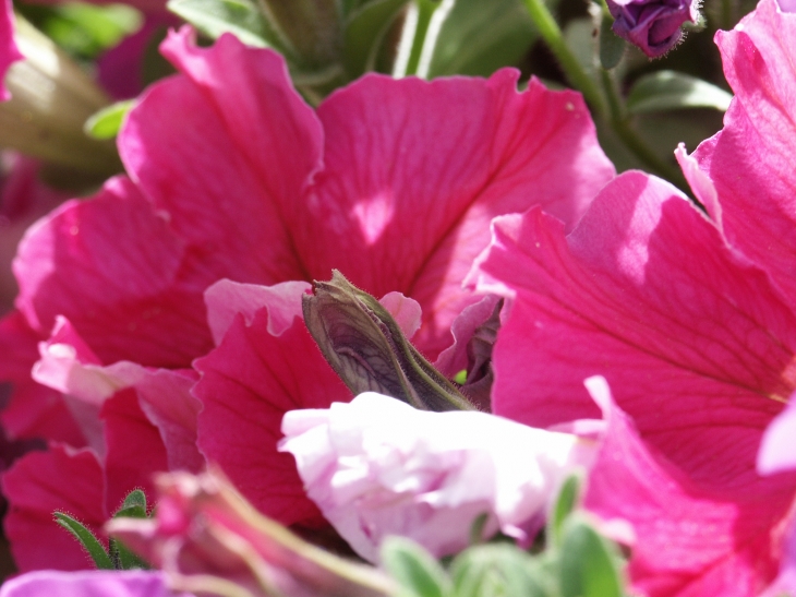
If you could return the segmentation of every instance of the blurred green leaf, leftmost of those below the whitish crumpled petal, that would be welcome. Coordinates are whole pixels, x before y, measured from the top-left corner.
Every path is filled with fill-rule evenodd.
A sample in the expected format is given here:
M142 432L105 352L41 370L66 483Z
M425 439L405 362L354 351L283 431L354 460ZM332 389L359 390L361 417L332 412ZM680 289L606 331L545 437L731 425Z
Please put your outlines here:
M414 541L389 537L382 545L382 564L402 588L417 597L445 597L450 581L439 563Z

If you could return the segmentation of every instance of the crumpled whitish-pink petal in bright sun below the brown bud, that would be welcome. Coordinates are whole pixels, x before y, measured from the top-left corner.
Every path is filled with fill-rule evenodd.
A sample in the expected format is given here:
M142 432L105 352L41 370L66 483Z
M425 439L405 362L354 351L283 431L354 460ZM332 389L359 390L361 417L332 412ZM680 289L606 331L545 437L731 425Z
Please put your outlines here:
M530 542L560 483L589 468L598 443L479 411L432 413L372 392L328 409L292 410L279 450L307 494L362 558L390 535L436 557L456 553L486 514ZM517 457L521 454L522 457Z

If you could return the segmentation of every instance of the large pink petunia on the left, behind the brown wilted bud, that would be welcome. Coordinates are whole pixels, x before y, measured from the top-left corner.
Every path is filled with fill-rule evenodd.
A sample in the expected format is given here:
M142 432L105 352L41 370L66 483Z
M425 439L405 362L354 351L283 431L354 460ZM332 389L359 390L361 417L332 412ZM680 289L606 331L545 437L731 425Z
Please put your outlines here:
M491 218L540 204L571 227L614 169L577 94L535 81L518 93L515 71L431 83L370 75L313 110L281 58L232 36L202 49L184 28L162 51L180 74L128 116L128 177L63 205L21 246L16 306L43 341L36 378L83 405L87 434L96 417L86 409L134 392L180 468L178 456L198 454L183 373L209 353L195 391L204 455L245 467L236 483L248 497L261 488L257 506L291 518L282 522L317 520L297 503L294 467L282 491L278 468L256 459L276 454L286 410L350 398L296 319L305 282L290 280L337 267L377 296L412 297L423 310L418 343L434 358L480 300L461 282ZM155 382L168 387L148 392ZM19 528L23 518L12 510Z

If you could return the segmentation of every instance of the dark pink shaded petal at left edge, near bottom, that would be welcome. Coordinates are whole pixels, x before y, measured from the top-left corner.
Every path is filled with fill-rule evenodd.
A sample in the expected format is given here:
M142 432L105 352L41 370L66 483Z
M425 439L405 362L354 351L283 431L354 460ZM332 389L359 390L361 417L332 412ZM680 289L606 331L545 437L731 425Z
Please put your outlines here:
M94 568L80 544L53 522L52 512L65 512L96 534L106 520L104 487L97 456L62 445L27 454L3 475L10 502L3 527L21 572Z

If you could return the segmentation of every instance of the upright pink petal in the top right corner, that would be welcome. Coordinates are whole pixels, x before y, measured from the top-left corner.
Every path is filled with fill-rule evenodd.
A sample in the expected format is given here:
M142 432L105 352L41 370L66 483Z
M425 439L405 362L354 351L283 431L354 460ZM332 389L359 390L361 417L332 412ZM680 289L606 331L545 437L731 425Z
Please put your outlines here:
M768 268L796 300L796 14L762 0L732 32L719 32L735 98L724 129L695 152L715 184L731 243ZM761 241L765 239L765 241Z

